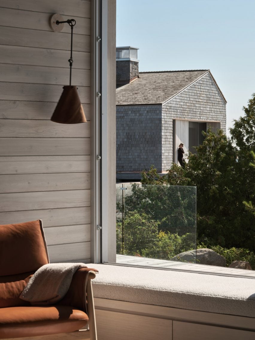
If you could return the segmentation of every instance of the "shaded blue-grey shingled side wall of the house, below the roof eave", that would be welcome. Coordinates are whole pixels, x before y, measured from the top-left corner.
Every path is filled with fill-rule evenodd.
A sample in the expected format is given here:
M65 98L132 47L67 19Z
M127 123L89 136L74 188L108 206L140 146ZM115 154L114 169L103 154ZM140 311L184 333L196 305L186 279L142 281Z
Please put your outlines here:
M116 170L162 167L162 105L116 107Z

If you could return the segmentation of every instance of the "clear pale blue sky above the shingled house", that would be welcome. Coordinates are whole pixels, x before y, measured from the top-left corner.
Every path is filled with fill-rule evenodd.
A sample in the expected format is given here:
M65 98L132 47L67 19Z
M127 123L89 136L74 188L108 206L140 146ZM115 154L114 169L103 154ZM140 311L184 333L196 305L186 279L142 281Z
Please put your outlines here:
M116 45L139 48L139 71L210 69L227 129L255 92L255 0L117 0Z

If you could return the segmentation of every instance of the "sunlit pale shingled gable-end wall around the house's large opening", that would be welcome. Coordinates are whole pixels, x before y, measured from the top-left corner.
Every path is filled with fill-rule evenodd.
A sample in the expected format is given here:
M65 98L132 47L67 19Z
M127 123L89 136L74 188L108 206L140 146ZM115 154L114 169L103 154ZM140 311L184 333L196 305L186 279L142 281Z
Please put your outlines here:
M209 73L162 106L162 171L174 162L174 119L220 121L226 133L226 103Z

